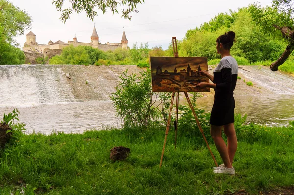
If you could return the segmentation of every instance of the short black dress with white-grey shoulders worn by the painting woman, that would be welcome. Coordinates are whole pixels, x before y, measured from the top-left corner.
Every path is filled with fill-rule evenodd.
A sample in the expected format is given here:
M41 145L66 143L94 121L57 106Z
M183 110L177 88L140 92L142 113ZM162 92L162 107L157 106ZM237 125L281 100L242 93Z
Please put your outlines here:
M216 84L214 104L209 123L227 125L234 123L235 99L233 97L238 75L238 64L232 56L225 56L213 72Z

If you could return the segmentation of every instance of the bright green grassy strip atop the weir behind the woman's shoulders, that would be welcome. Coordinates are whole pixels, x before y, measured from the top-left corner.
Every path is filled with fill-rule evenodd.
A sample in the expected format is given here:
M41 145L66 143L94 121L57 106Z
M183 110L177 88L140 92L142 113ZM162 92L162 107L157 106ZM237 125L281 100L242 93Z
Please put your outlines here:
M238 62L238 65L262 65L262 66L270 66L273 61L265 60L265 61L257 61L250 63L249 60L242 57L235 57ZM208 61L208 65L217 65L220 62L220 59L212 59ZM284 64L279 66L279 70L283 72L287 72L289 74L294 74L294 56L290 56Z

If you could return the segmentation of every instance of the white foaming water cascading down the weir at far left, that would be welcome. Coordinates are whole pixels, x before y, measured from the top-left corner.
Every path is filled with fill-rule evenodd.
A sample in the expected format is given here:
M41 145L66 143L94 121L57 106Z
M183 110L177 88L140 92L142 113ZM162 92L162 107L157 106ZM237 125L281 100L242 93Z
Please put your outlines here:
M73 102L65 73L52 65L1 65L0 106Z

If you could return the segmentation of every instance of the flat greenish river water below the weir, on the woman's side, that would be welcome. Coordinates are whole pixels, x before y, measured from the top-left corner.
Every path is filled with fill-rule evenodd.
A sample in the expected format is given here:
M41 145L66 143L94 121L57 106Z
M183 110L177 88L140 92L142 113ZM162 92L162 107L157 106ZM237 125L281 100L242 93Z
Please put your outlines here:
M294 95L238 96L234 95L235 113L247 114L247 123L287 125L294 120ZM197 107L210 111L213 97L197 100Z

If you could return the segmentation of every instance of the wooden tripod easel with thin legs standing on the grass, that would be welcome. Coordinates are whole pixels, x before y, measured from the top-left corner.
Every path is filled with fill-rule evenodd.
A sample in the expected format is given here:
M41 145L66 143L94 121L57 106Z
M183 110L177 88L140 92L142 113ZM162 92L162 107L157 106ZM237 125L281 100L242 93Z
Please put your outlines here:
M178 50L177 50L176 37L172 37L172 45L173 45L174 57L178 58L179 57L179 54L178 54ZM165 144L166 144L168 133L169 133L169 129L170 129L171 115L172 115L172 107L173 107L173 101L174 101L175 93L176 93L176 111L175 111L176 113L175 113L175 122L174 122L174 128L175 128L175 144L174 144L175 146L174 147L176 149L176 138L177 138L177 130L178 130L178 112L179 112L179 92L178 91L177 92L173 91L172 92L172 102L171 102L171 107L170 107L170 111L169 111L169 117L168 117L168 122L167 122L167 127L166 127L165 138L164 138L164 143L163 143L163 148L162 148L162 153L161 153L161 159L160 159L159 167L161 167L161 164L162 164L162 159L163 159L163 153L164 153L164 149L165 149ZM194 108L193 108L193 106L191 104L191 101L189 99L188 93L187 92L184 92L184 94L185 94L186 99L187 99L187 102L188 102L188 104L189 104L189 106L190 106L190 108L192 110L192 113L193 113L193 115L195 117L195 120L196 120L196 123L198 125L198 128L199 128L199 130L200 130L200 132L201 132L201 134L202 134L202 136L203 136L203 138L205 140L205 143L206 143L206 145L208 147L208 150L209 150L209 152L210 152L210 154L211 154L211 156L212 156L212 158L214 160L214 163L218 167L218 163L217 163L217 161L216 161L213 153L210 150L210 147L208 145L208 142L207 142L207 140L205 138L204 132L203 132L202 127L200 125L200 122L198 120L198 117L196 116L195 110L194 110Z

